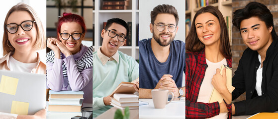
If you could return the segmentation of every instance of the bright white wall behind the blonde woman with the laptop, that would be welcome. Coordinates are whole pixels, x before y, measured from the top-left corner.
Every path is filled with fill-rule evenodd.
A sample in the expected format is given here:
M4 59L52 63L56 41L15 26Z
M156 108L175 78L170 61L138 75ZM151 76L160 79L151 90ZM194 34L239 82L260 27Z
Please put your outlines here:
M35 9L40 20L42 21L44 31L46 33L46 0L5 0L2 1L0 8L0 58L3 56L2 40L3 40L3 25L5 21L6 14L8 10L17 4L18 2L23 2ZM46 63L46 49L38 51L41 60Z

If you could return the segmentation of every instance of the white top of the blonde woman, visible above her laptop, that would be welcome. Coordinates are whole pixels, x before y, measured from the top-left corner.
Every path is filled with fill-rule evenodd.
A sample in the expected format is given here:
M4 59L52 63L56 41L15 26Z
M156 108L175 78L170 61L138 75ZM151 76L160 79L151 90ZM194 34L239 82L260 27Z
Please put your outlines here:
M15 60L12 56L9 56L9 60L7 62L8 67L12 71L19 72L31 72L33 68L37 66L37 62L35 63L22 63L18 60Z

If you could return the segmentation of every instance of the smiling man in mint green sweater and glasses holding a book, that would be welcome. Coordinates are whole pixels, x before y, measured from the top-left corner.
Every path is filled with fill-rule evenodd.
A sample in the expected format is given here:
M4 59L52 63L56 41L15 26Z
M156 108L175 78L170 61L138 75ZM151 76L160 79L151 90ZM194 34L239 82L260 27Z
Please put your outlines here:
M112 107L110 94L122 81L139 77L139 64L118 51L126 42L127 31L126 22L119 18L109 19L101 31L102 46L93 53L93 117Z

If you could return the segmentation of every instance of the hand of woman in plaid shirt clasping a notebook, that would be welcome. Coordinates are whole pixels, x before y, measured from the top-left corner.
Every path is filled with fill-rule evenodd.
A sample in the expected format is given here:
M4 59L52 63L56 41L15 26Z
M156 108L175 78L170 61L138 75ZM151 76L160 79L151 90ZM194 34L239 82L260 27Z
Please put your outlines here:
M211 79L211 84L220 93L224 93L228 90L226 86L226 68L223 69L223 75L220 74L220 69L216 69L216 74Z

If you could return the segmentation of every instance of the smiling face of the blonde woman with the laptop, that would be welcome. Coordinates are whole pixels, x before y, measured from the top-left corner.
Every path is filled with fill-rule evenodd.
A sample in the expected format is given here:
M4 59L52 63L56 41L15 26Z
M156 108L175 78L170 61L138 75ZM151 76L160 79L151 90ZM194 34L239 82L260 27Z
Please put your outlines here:
M15 23L21 24L26 20L34 20L27 11L14 11L12 12L6 24ZM33 27L30 31L24 31L21 26L18 26L18 30L14 33L8 33L8 40L12 47L14 47L15 52L30 52L34 51L33 46L37 41L37 26L36 23L33 24Z

